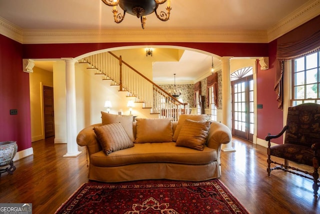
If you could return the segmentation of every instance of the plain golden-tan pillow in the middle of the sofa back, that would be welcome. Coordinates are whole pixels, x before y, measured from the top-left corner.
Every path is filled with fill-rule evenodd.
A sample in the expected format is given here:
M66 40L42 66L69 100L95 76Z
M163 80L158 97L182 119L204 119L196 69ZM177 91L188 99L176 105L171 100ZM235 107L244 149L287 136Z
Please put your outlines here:
M136 119L135 143L172 142L171 118Z

